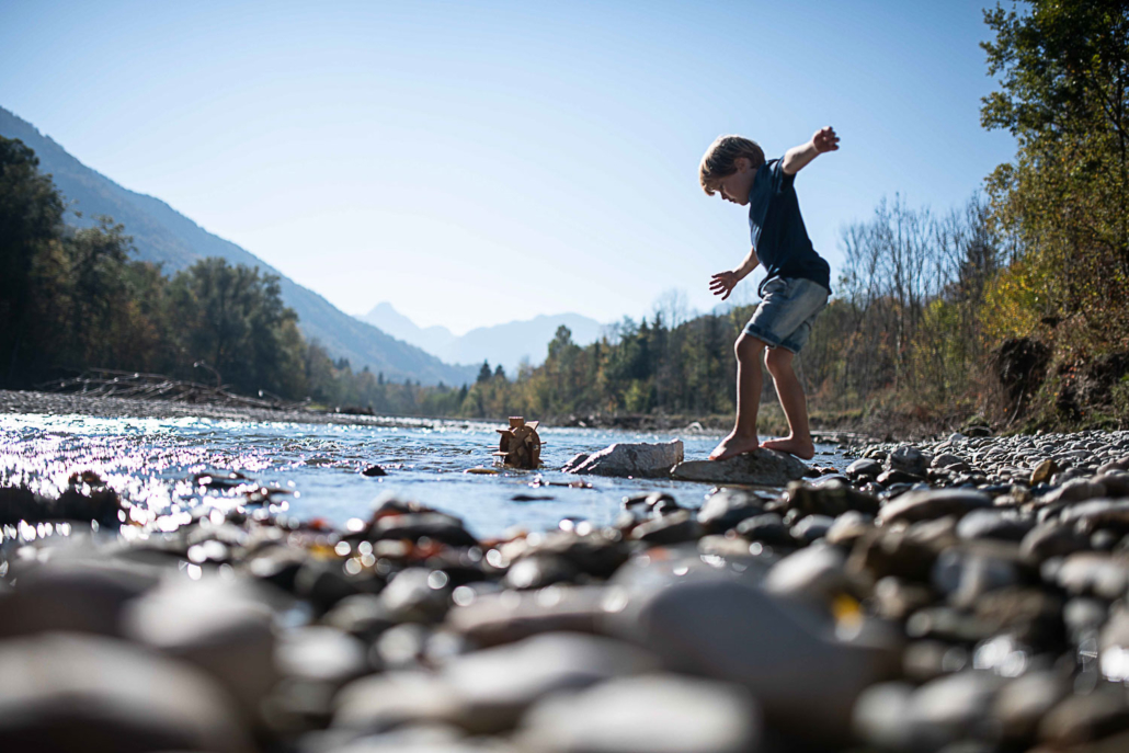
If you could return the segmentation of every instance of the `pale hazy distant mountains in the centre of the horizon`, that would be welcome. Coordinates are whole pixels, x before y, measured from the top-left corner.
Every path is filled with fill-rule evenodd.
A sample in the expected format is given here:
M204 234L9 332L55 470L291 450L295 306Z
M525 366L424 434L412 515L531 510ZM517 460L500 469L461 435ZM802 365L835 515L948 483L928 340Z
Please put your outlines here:
M510 377L517 374L522 360L528 360L532 366L545 360L549 341L560 325L572 331L572 342L578 345L595 342L604 330L599 322L580 314L554 314L478 327L457 336L443 326L421 329L387 303L377 304L359 318L452 364L484 360L491 365L501 364Z

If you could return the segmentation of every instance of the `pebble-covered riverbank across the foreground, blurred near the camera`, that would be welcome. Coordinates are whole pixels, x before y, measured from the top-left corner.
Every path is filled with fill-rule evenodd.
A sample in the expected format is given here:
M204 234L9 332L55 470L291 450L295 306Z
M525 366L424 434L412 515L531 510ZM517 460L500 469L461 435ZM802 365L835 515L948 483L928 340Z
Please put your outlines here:
M1129 746L1129 432L855 445L478 540L0 491L6 751ZM76 469L76 471L81 471ZM222 479L198 479L222 483Z

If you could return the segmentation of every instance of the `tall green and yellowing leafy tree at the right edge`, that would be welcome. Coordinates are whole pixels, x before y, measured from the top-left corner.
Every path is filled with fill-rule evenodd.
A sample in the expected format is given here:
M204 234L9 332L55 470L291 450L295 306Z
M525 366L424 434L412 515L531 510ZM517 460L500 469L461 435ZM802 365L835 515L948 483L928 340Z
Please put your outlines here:
M984 12L996 38L982 46L1000 90L984 98L981 120L1009 130L1018 146L988 182L995 219L1019 262L992 296L994 316L1062 321L1057 340L1075 350L1124 348L1129 6L1025 5L1023 14L998 6ZM1035 310L1023 317L1014 308Z

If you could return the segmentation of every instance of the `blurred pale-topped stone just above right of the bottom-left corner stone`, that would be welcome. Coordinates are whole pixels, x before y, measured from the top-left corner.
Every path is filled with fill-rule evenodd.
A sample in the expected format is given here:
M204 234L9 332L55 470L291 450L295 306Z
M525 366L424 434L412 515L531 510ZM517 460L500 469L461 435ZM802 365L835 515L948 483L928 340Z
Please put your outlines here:
M274 684L272 612L247 583L168 580L122 614L125 636L189 662L254 717Z

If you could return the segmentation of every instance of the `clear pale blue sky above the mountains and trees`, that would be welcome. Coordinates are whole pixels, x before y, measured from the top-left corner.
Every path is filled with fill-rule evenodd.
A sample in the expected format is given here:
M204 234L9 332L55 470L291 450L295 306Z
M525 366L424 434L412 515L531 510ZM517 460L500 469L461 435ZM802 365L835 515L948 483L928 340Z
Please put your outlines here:
M796 182L832 287L883 198L968 201L1015 151L984 6L2 0L0 105L348 313L638 321L747 253L698 184L719 134L835 128Z

